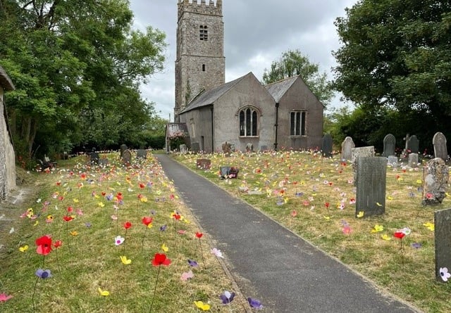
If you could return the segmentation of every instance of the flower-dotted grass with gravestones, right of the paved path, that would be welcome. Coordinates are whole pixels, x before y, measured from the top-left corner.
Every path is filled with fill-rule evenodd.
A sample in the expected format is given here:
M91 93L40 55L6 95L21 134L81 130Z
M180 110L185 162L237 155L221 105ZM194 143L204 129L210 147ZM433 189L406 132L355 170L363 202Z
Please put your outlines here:
M197 168L197 158L209 158L211 170ZM425 312L451 312L450 284L435 281L434 231L427 224L434 222L435 210L451 206L451 199L421 205L423 165L388 167L385 215L357 218L352 166L338 158L285 151L234 153L229 158L185 154L175 159L368 277L381 290ZM238 178L219 179L221 166L239 167ZM376 225L383 231L376 231ZM404 227L412 233L400 242L393 233ZM413 243L421 247L414 248Z

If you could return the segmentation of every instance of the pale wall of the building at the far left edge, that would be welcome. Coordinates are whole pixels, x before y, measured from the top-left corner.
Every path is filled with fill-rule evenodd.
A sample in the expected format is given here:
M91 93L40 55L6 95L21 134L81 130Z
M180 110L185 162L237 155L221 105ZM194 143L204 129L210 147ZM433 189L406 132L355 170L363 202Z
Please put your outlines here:
M6 121L4 92L15 89L13 82L0 66L0 202L16 188L16 155Z

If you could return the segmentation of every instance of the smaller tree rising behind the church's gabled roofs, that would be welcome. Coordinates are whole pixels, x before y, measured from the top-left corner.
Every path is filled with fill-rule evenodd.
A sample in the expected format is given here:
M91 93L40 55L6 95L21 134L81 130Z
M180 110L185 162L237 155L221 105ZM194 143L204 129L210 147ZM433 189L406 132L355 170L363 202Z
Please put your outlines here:
M326 72L319 73L319 65L310 63L307 56L303 56L299 50L288 50L282 53L279 60L271 63L271 70L265 68L262 82L271 84L279 80L300 75L325 106L333 97L333 89L327 79Z

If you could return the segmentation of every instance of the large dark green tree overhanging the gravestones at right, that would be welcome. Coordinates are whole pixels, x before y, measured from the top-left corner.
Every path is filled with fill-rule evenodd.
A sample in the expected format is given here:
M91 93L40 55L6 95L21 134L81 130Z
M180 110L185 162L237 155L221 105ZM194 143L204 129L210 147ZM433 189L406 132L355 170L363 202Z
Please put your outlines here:
M418 135L428 141L451 133L449 1L361 0L335 26L335 88L347 100L364 112L396 110L411 133L426 124Z

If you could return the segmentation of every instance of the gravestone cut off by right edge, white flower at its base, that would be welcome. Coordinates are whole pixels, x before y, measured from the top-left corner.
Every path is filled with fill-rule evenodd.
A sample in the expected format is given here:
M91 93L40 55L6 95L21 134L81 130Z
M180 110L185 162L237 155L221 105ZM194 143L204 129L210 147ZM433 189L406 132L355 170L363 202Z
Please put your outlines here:
M447 268L448 272L451 272L451 209L434 212L434 234L435 279L443 283L445 280L440 274L440 269Z

